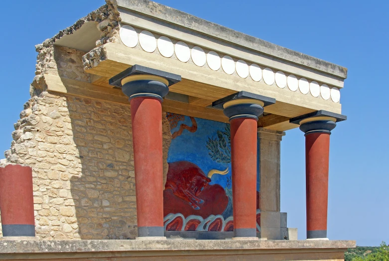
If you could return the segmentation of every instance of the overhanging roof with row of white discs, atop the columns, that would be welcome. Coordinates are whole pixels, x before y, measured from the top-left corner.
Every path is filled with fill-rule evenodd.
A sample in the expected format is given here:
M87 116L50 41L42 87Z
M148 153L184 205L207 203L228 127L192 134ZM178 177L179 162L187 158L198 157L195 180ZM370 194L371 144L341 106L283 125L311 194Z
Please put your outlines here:
M85 91L83 95L87 93L98 95L96 93L98 88L93 86L112 88L109 85L110 78L138 64L181 75L181 82L170 86L170 93L165 97L169 106L165 105L164 108L174 113L228 121L220 110L212 108L212 102L246 91L275 99L275 103L264 108L265 113L259 119L259 127L284 131L297 127L289 121L290 118L320 110L341 114L339 95L344 79L347 77L347 69L342 66L263 41L152 1L117 0L117 8L120 12L121 28L131 28L132 31L121 30L119 37L122 41L103 44L84 56L84 60L89 58L93 60L84 65L86 72L92 74L91 84L87 86L94 90ZM150 33L144 34L144 31ZM131 40L135 40L135 44L126 46L123 43L124 39L133 35L136 35L136 39ZM161 36L171 42L169 43L173 46L171 56L162 55L160 46L157 44ZM96 24L86 22L73 34L64 35L56 40L55 44L87 52L96 46L96 40L99 38ZM141 45L141 41L145 45L155 45L155 48L148 50L147 46ZM182 61L176 55L177 42L184 42L190 50L188 60ZM218 56L216 60L220 59L217 62L220 62L221 66L212 68L212 64L207 59L204 65L198 63L196 65L192 53L195 46L200 47L197 50L202 50L200 51L202 57L210 52L216 53L213 58ZM96 53L99 54L98 57ZM93 55L94 57L91 58ZM223 58L230 59L230 65L233 60L233 68L230 66L229 69L232 69L230 72L223 66ZM251 67L256 67L257 72L260 68L260 79L258 75L256 78L251 74ZM294 85L289 86L287 79L293 77L295 77ZM63 80L60 84L58 79L54 80L54 78L52 84L48 85L49 89L66 90L67 84L77 85L75 82L70 84ZM324 91L322 92L321 89ZM120 90L101 89L101 93L107 93L101 97L127 102L117 91ZM331 96L332 92L334 92L333 96ZM107 96L108 93L110 95L112 93L113 96Z

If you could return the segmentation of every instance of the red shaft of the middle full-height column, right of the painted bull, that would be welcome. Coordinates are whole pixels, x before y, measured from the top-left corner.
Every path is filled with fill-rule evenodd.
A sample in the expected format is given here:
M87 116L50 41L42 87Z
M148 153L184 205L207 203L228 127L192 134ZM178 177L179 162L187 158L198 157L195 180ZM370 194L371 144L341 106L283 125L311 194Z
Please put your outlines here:
M257 121L238 118L230 123L234 230L256 231Z

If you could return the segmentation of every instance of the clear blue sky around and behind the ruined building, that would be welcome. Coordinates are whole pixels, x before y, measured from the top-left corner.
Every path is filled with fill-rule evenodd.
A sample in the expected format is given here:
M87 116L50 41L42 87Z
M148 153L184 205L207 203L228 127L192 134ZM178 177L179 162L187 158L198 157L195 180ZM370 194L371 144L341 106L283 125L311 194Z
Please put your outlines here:
M360 246L389 243L389 1L158 0L168 6L348 68L341 90L346 122L331 135L328 237ZM238 4L237 4L238 3ZM0 42L0 151L29 99L34 45L103 0L6 1ZM288 131L281 150L281 211L305 239L304 135Z

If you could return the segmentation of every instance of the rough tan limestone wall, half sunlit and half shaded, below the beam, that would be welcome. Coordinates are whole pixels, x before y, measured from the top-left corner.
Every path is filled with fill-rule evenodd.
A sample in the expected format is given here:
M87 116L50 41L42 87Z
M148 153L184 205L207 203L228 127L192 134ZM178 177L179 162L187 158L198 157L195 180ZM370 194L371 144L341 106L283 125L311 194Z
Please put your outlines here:
M36 235L134 239L130 106L42 92L20 117L5 157L32 167ZM171 134L162 118L165 181Z

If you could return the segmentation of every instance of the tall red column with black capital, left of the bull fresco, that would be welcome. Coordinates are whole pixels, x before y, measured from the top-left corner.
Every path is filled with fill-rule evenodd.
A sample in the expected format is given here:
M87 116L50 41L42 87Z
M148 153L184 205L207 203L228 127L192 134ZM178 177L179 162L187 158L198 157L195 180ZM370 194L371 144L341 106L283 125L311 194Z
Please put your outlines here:
M180 75L138 64L110 79L130 100L138 239L166 239L161 103L179 81Z

